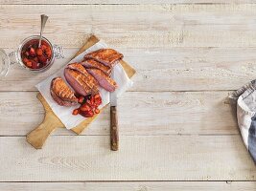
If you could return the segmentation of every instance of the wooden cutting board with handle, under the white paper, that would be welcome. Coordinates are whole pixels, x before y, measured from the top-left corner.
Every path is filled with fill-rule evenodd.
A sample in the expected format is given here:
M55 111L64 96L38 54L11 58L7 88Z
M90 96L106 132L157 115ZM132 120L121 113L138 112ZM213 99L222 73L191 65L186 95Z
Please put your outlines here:
M74 57L76 57L80 53L84 52L86 49L90 48L91 46L93 46L94 44L96 44L99 41L100 41L100 39L97 38L95 35L90 36L89 39L86 41L86 43L81 47L80 51L74 55ZM124 60L121 60L120 63L123 66L123 68L125 69L126 73L128 74L128 77L131 77L133 74L136 73L135 70L131 66L129 66L128 63L126 63ZM58 117L54 114L54 112L48 105L47 101L44 99L43 96L41 96L40 93L37 95L37 98L41 101L41 103L44 107L45 117L44 117L43 121L40 123L40 125L27 135L27 141L32 146L34 146L35 149L41 149L42 146L44 145L44 142L46 141L46 139L49 137L49 135L52 132L54 132L57 128L65 128L65 126L58 119ZM72 128L71 130L78 135L81 134L81 132L98 115L84 119L78 126Z

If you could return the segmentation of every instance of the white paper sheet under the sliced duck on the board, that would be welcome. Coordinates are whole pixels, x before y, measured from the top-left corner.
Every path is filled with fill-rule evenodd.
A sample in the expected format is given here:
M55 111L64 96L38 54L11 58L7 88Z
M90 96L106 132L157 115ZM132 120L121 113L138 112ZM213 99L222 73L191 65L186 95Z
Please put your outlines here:
M99 41L98 43L96 43L95 45L93 45L83 53L76 56L69 63L80 62L86 53L97 51L103 48L107 48L106 44L102 41ZM79 105L72 106L72 107L59 106L58 103L52 98L50 94L50 86L53 78L60 76L63 80L65 80L65 77L63 74L65 67L66 65L62 67L56 74L50 75L49 77L47 77L46 79L38 83L35 87L38 89L41 95L45 98L45 100L47 101L47 103L50 105L53 112L55 113L55 115L61 120L64 126L67 129L72 129L73 127L79 125L81 121L85 119L84 117L81 117L81 115L77 115L77 116L72 115L73 110L78 108ZM119 97L124 92L126 92L129 87L132 86L132 81L128 78L127 73L125 72L125 70L123 69L120 63L118 63L113 70L115 73L114 80L118 84L118 88L115 91L117 92L117 97ZM100 95L102 96L103 103L99 106L99 109L103 108L110 101L109 93L105 91L103 88L100 88Z

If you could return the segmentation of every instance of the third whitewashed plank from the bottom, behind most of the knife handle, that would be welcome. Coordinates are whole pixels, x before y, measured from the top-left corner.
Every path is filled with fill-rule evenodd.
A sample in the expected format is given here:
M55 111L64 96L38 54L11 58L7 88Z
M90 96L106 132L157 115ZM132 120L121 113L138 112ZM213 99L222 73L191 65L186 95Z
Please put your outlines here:
M125 93L118 100L120 134L236 134L238 127L225 97L228 92ZM0 93L0 136L24 136L42 120L36 93ZM109 108L83 132L109 135ZM55 135L73 135L58 129Z

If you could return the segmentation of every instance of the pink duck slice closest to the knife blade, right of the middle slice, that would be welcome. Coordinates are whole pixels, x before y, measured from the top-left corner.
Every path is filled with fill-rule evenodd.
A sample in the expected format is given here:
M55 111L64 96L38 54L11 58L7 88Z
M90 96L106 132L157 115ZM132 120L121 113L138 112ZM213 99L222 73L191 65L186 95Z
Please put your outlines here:
M89 74L92 74L99 82L100 86L108 92L114 92L117 88L116 82L108 75L98 69L86 69Z

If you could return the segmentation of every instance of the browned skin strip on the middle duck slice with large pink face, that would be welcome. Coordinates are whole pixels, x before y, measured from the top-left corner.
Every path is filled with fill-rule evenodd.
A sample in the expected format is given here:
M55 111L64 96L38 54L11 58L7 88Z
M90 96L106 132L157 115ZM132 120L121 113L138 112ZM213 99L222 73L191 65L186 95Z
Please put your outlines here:
M98 81L84 69L81 63L72 63L67 66L68 69L72 69L77 71L78 73L84 75L85 77L81 76L81 80L87 84L87 86L91 89L91 93L97 94L98 90Z

